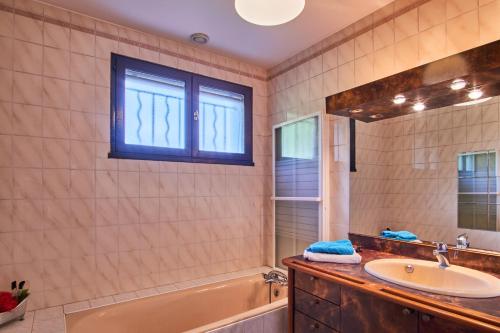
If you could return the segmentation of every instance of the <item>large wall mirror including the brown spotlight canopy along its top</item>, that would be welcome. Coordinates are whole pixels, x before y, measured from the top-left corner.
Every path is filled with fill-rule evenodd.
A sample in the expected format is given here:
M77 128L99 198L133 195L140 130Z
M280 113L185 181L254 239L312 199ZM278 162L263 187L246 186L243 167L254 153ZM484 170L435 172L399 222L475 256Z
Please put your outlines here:
M467 234L471 248L500 251L500 42L486 48L494 56L476 69L462 54L327 98L329 113L357 120L351 233L452 245Z

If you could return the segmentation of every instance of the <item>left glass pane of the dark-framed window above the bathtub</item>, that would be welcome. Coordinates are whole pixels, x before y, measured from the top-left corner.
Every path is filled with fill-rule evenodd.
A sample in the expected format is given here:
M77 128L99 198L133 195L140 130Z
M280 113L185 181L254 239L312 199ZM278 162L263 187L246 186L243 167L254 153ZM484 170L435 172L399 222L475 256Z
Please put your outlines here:
M184 82L125 72L125 143L184 149Z

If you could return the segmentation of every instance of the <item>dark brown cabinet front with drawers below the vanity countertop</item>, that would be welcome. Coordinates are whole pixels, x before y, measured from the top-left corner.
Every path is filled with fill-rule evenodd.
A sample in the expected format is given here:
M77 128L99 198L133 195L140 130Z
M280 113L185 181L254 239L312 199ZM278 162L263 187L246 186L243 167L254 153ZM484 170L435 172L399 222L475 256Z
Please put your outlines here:
M479 333L362 290L289 269L290 333Z

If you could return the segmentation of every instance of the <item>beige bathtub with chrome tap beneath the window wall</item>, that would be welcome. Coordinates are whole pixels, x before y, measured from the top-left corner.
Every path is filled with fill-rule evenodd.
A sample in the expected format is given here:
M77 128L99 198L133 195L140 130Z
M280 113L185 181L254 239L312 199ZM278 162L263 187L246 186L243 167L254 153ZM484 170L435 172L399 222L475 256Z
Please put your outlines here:
M287 287L261 274L66 315L67 333L216 332L286 306Z

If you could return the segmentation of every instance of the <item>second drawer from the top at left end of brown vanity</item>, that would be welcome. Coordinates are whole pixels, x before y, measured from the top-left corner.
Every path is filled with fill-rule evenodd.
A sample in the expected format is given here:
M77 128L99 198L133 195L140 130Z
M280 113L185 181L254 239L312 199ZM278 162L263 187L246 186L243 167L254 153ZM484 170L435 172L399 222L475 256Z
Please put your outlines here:
M309 317L339 330L340 307L322 298L295 289L295 309Z

